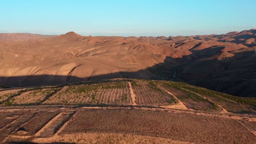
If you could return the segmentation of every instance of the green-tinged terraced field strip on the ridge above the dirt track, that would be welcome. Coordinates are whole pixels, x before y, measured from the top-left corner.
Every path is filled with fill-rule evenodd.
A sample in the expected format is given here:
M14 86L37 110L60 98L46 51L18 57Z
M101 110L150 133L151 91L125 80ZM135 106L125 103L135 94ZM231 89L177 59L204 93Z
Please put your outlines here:
M256 98L240 98L181 82L113 79L0 92L0 106L174 106L191 110L255 112ZM170 107L171 108L171 107ZM172 107L178 108L178 107ZM178 108L179 109L179 108Z

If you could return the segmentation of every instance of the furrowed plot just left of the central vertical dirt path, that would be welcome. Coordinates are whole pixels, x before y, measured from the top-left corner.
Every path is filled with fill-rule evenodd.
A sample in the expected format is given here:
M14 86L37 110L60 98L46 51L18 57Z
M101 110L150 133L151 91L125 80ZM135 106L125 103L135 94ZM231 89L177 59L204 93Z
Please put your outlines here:
M65 86L43 104L130 104L126 82Z

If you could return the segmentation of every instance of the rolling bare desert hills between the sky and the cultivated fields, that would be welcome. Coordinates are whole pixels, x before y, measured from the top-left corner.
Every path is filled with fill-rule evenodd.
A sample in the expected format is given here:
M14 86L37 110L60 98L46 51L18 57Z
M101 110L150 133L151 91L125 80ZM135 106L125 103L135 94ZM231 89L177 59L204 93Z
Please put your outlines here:
M38 86L108 78L173 79L255 97L255 30L204 36L0 37L0 85ZM4 37L4 38L3 38ZM13 38L16 40L17 38Z

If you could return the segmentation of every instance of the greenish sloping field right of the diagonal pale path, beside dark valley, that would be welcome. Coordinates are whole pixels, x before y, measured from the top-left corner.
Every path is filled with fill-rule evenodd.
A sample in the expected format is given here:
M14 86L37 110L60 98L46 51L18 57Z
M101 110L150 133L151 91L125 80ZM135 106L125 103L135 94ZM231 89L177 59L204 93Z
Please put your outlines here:
M188 108L194 110L227 110L228 112L254 112L256 98L240 98L181 82L158 82Z

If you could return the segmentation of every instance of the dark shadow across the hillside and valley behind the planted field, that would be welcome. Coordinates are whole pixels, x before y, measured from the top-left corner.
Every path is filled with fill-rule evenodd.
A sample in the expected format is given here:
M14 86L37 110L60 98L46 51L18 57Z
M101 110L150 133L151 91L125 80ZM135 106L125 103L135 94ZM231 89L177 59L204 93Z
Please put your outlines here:
M0 87L28 87L84 82L112 78L174 80L218 92L243 97L256 97L256 57L254 51L238 52L218 59L222 46L193 50L182 58L167 56L163 63L136 72L117 72L79 78L76 76L12 76L0 77ZM221 57L221 56L220 56Z

